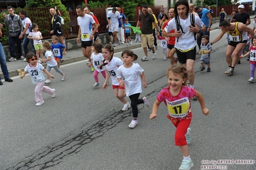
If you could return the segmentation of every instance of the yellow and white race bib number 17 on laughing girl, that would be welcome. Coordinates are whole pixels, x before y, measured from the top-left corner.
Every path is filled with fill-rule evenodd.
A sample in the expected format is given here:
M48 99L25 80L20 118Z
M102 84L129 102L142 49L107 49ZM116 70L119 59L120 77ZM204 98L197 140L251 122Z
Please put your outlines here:
M173 118L183 118L189 114L189 98L181 98L180 100L175 100L169 102L166 100L169 115Z

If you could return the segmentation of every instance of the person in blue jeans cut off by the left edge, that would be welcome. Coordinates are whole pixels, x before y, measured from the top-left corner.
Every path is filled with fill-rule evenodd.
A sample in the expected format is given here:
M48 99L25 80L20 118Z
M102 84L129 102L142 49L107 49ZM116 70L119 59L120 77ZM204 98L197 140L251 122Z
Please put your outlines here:
M0 23L0 37L3 36L3 33L1 31L2 27L3 27L3 24ZM4 49L3 49L1 42L0 42L0 65L1 65L1 70L3 72L3 75L4 75L4 81L12 82L13 80L10 79L10 77L9 77L9 71L8 71L8 68L6 65L6 58L4 55ZM0 77L0 86L1 85L3 85L3 82L1 81L1 77Z

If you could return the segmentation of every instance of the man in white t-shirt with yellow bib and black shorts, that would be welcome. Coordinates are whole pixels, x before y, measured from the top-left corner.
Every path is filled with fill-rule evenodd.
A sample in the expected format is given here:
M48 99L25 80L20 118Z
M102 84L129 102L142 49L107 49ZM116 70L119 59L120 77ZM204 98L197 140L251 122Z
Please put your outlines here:
M78 5L76 6L76 13L78 15L78 38L76 38L76 42L80 42L81 38L81 49L83 52L83 56L88 58L89 61L87 65L90 64L90 55L92 52L92 40L94 39L94 34L98 29L98 25L96 24L95 20L92 18L91 15L85 13L83 6ZM90 27L90 23L94 26L94 30L92 31L92 27Z

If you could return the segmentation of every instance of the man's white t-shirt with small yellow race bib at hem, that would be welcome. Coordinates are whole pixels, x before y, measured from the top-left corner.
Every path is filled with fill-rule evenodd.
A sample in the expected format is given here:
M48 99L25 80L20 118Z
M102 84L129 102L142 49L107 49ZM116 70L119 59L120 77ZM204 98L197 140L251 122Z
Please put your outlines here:
M81 29L81 40L83 42L91 41L90 35L92 34L92 26L90 26L90 23L94 24L95 20L87 13L85 13L83 17L78 17L78 26L80 26Z

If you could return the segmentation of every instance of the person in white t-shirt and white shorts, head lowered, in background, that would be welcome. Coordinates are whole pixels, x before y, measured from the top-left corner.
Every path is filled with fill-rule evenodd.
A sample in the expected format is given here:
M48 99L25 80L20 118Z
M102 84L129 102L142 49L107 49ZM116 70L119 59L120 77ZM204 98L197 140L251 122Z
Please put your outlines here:
M119 30L119 22L118 19L120 19L121 21L121 26L123 27L123 19L120 15L119 12L117 12L117 8L112 8L112 11L108 12L107 14L108 17L108 26L111 30L111 32L113 33L113 37L114 37L114 47L117 46L117 33Z

